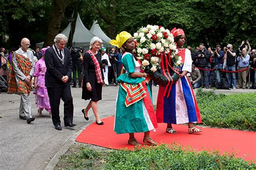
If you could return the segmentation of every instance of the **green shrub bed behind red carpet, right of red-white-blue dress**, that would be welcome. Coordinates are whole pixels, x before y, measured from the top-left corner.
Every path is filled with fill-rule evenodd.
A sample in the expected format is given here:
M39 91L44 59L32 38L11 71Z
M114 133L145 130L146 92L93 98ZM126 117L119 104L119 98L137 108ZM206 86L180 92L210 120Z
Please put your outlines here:
M256 92L225 95L198 89L196 98L203 125L256 130Z

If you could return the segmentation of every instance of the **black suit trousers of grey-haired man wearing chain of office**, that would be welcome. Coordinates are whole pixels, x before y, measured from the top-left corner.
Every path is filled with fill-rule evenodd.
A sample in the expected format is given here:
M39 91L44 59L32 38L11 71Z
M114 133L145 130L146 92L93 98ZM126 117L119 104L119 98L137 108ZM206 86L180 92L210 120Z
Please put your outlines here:
M64 101L64 124L73 123L73 98L71 96L70 86L47 87L51 106L52 123L54 126L60 125L59 104L60 98Z

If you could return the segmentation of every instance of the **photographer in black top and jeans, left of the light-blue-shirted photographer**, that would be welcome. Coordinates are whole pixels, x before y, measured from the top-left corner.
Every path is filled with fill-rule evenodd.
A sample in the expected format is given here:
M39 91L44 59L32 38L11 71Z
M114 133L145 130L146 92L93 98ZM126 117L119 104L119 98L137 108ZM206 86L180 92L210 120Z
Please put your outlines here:
M236 52L237 51L233 50L233 45L232 44L227 44L226 53L224 55L224 58L226 59L225 70L227 70L227 71L235 71L235 57L237 56ZM233 89L237 89L235 87L235 84L236 84L235 73L226 72L227 84L230 87L231 75L232 75L232 88Z

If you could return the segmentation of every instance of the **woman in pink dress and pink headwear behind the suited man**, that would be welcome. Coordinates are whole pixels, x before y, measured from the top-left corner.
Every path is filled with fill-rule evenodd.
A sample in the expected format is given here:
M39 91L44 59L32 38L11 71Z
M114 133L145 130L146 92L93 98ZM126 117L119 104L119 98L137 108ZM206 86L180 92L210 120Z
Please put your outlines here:
M41 50L42 52L42 58L39 59L35 65L35 73L34 73L34 92L33 94L36 94L36 105L38 107L38 114L42 115L43 109L45 109L47 112L49 112L51 117L51 107L49 102L49 97L47 93L47 89L45 87L45 72L46 72L46 66L44 62L44 54L45 51L49 48L43 48Z

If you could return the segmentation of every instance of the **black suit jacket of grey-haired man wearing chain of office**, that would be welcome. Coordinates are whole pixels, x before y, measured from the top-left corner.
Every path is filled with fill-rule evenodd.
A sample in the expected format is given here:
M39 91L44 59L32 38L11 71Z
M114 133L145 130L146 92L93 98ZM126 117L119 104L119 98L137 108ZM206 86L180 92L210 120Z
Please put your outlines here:
M62 85L70 86L72 59L67 47L64 47L64 64L59 60L56 53L51 46L45 51L45 86L46 87L60 87ZM63 83L62 77L68 76L69 80Z

